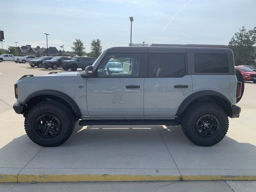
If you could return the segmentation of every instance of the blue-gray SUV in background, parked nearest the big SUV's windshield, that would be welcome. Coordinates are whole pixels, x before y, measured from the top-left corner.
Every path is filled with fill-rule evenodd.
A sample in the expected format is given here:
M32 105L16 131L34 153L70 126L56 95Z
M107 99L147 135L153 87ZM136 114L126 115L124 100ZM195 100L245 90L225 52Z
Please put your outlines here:
M87 66L92 65L93 62L93 57L73 57L72 60L62 61L62 68L64 70L71 69L72 71L76 71L77 68L84 70Z

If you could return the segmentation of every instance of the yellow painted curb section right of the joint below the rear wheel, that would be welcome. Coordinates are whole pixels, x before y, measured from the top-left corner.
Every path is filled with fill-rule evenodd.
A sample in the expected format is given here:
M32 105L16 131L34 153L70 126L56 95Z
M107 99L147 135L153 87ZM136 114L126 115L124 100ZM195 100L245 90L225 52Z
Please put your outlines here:
M256 181L256 176L229 176L229 175L184 175L183 181Z

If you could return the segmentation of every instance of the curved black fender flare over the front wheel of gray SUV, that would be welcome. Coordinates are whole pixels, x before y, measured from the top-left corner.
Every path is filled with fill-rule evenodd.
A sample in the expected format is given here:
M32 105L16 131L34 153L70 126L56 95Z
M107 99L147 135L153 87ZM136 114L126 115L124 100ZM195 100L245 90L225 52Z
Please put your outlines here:
M22 104L26 104L26 102L28 102L28 100L30 100L36 96L40 96L40 95L51 95L51 96L59 97L59 98L63 99L64 101L66 101L71 106L72 110L74 110L74 112L77 116L79 116L79 117L82 116L82 113L81 113L78 105L76 104L76 102L70 96L68 96L62 92L56 91L56 90L42 90L42 91L34 92L30 96L28 96Z

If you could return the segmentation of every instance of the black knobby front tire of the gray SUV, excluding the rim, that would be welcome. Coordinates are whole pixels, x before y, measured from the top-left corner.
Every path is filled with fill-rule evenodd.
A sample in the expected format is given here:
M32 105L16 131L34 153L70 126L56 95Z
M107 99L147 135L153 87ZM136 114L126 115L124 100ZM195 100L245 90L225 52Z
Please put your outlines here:
M53 114L61 122L61 130L53 138L44 138L36 131L36 119L42 114ZM26 134L34 143L44 147L59 146L66 142L75 126L75 117L72 110L61 102L43 101L32 107L26 114L24 122Z

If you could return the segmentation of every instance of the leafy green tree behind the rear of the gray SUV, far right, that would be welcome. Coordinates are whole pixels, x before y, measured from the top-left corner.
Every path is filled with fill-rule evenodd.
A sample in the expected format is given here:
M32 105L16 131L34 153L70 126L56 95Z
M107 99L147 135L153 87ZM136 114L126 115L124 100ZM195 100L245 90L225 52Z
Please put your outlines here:
M255 63L255 53L252 45L252 35L242 26L239 32L231 38L228 46L234 52L235 65L252 65Z

